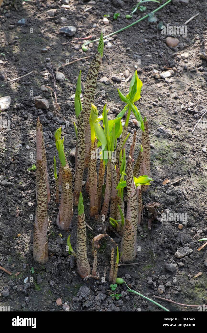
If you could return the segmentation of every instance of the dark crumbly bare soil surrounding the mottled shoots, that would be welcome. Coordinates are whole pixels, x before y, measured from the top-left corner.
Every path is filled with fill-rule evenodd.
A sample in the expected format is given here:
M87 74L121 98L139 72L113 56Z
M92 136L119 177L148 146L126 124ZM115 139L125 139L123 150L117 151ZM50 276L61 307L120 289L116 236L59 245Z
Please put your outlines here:
M130 82L125 80L123 73L128 69L133 74L135 68L138 69L143 88L137 106L143 118L146 116L149 120L151 172L154 179L150 189L143 193L143 204L159 202L159 213L166 213L166 210L187 213L187 223L183 224L182 230L171 221L156 220L149 229L151 214L145 209L142 226L138 228L137 243L140 251L134 261L136 265L119 266L118 276L123 277L132 289L150 298L157 295L179 303L202 305L207 304L207 247L201 251L197 249L203 244L198 239L207 237L207 142L206 126L197 126L194 132L193 128L201 117L199 115L205 112L207 103L207 62L199 54L205 52L207 47L207 4L206 1L188 1L184 6L184 2L187 1L173 1L174 4L170 3L156 13L158 21L172 26L183 25L191 16L199 13L187 24L186 38L176 36L179 44L174 48L166 45L166 35L160 31L157 33L157 25L146 19L112 36L111 46L109 44L104 48L95 104L102 112L107 102L109 116L111 119L116 117L117 110L123 108L117 88L127 93ZM58 159L53 134L60 125L64 125L64 147L74 178L75 161L70 151L75 147L75 113L71 96L75 93L79 70L82 70L84 91L89 64L97 48L94 43L89 45L87 53L83 53L79 44L82 40L75 40L74 37L91 34L91 39L99 38L103 29L108 34L136 21L138 16L144 15L142 12L135 13L131 20L125 18L135 4L135 0L95 0L95 4L91 5L83 1L70 1L69 7L65 9L59 1L36 0L24 3L16 0L4 1L1 6L0 60L4 64L0 64L0 97L11 97L10 108L1 112L1 116L2 119L10 120L11 129L6 132L1 127L0 133L0 266L12 275L0 270L0 306L10 306L11 311L162 311L153 303L126 293L124 285L117 288L118 293L122 292L119 300L109 296L109 237L101 241L98 249L98 272L101 279L89 278L83 281L80 278L73 257L68 256L65 250L69 234L73 248L76 247L76 207L68 232L56 226L58 207L55 204L53 156ZM146 12L157 8L154 3L145 5ZM88 7L91 9L86 11ZM49 9L55 9L52 16L56 17L48 18ZM121 13L117 20L113 20L115 12ZM103 24L105 14L110 15L109 25ZM62 16L67 19L65 23L61 20ZM26 19L26 24L20 26L17 22L22 18ZM96 27L91 31L94 24ZM59 28L65 25L77 28L74 37L59 33ZM47 51L43 52L43 48ZM186 59L181 56L183 53L188 54ZM44 79L47 78L44 73L49 70L46 57L50 58L55 73L57 66L65 63L66 59L70 62L86 56L90 59L61 68L60 72L66 79L63 82L56 81L56 94L57 101L63 104L54 114L51 91L41 91L43 84L54 89L53 77ZM172 80L155 79L153 69L162 72L167 68L174 71ZM8 83L8 79L31 71L32 74ZM112 76L118 77L121 82L112 80ZM105 83L100 82L103 77L108 79ZM49 101L49 110L40 110L34 106L34 96L37 95ZM69 102L64 103L66 101ZM38 116L43 124L51 190L48 207L49 261L45 265L34 262L32 256L36 210L35 171L28 171L29 167L36 164ZM136 159L141 130L132 122L133 119L131 115L129 131L133 133L137 130ZM129 137L127 153L132 137L133 134ZM183 179L161 187L166 178L171 183ZM89 200L87 193L83 192L86 223L93 229L87 228L88 255L92 263L91 239L96 234L106 229L118 245L120 238L108 227L108 220L97 223L89 217ZM174 254L182 247L189 247L192 253L178 259ZM166 263L177 264L176 270L167 270ZM195 278L198 272L202 272L202 275ZM24 283L27 277L29 281ZM103 282L102 277L105 277L106 282ZM57 305L58 298L61 298L62 305L66 304ZM170 311L198 311L197 308L155 300Z

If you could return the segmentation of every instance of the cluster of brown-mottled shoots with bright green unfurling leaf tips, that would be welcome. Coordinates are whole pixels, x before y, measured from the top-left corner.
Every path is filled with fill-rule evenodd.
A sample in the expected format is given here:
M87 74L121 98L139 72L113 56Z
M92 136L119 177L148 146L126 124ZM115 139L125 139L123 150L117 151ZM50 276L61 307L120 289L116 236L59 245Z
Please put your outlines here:
M97 249L94 246L94 241L92 242L92 271L87 255L86 220L82 196L84 168L88 168L86 191L89 192L90 216L95 216L98 219L99 214L104 214L104 223L106 225L107 223L110 224L110 227L122 237L120 255L117 247L115 260L114 248L111 251L109 282L111 283L111 290L113 292L116 291L118 284L116 281L119 258L121 257L123 262L131 262L135 259L137 227L141 223L142 191L145 191L149 187L153 179L150 178L148 122L146 118L143 121L140 111L135 105L141 97L142 81L139 79L137 71L135 71L128 94L125 95L118 89L119 97L125 105L115 119L108 119L107 104L105 104L102 114L99 115L98 109L94 105L94 99L102 56L103 35L101 34L98 49L90 65L85 82L83 107L80 100L81 71L77 80L74 101L76 115L74 127L77 140L74 186L72 184L71 170L64 151L64 137L62 136L61 127L54 133L59 159L58 176L55 157L53 161L56 204L59 204L59 185L61 185L61 199L56 219L57 226L67 231L73 217L73 205L78 208L76 250L73 250L71 246L70 235L67 238L67 246L68 253L76 259L77 270L80 276L82 278L90 276L98 278L99 276L97 272ZM126 156L126 145L130 136L130 133L128 134L128 124L131 113L137 119L142 131L142 145L137 161L134 164L136 132L130 154ZM124 116L125 123L122 126L122 118ZM100 150L100 165L97 175L96 152L98 149ZM50 201L50 189L44 137L39 119L37 123L36 197L37 211L34 226L33 255L35 260L45 263L48 260L47 206ZM125 197L127 198L127 202L125 202ZM105 236L106 234L102 235ZM113 293L111 297L119 299L121 294Z

